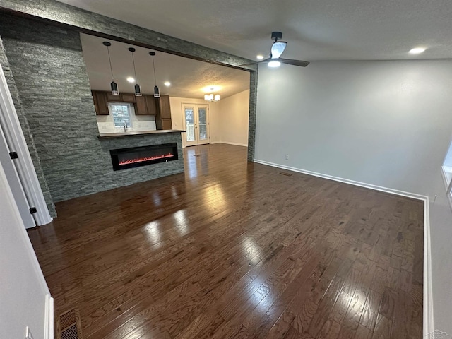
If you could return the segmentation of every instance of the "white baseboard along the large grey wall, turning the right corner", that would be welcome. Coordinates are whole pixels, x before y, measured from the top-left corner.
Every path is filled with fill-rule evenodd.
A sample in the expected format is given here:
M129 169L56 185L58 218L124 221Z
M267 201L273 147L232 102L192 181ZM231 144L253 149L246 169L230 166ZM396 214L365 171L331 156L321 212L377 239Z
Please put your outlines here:
M423 332L424 336L434 331L434 314L433 314L433 291L432 291L432 245L430 243L430 208L429 197L421 194L415 194L405 191L399 191L398 189L389 189L387 187L377 186L373 184L366 184L364 182L356 182L355 180L344 179L340 177L334 177L328 174L321 174L317 172L307 171L305 169L299 169L296 167L290 167L273 162L256 160L254 162L262 165L268 165L272 167L278 167L281 169L287 169L293 172L312 175L314 177L320 177L323 179L334 180L335 182L343 182L345 184L364 187L367 189L375 189L376 191L386 192L389 194L396 194L398 196L406 196L408 198L414 198L424 201L424 300L423 300Z

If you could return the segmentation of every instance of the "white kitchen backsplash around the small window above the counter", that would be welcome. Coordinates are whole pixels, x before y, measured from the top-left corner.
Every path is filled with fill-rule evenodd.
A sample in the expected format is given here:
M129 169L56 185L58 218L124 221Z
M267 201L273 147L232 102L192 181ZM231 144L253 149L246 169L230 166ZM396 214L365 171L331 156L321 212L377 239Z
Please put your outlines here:
M124 102L121 102L124 104ZM142 132L142 131L155 131L155 117L153 115L135 115L135 107L131 104L131 128L127 131L130 132ZM97 128L99 133L118 133L124 132L124 129L115 129L112 112L109 115L96 115Z

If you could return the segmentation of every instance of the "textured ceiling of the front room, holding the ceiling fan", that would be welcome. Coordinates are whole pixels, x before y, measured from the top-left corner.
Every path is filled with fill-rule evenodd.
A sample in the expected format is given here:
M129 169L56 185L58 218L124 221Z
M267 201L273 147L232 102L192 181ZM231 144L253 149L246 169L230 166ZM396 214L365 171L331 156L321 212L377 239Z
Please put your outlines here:
M289 42L283 57L314 60L449 59L450 0L63 0L223 52L268 54L270 33ZM424 46L412 56L408 50Z

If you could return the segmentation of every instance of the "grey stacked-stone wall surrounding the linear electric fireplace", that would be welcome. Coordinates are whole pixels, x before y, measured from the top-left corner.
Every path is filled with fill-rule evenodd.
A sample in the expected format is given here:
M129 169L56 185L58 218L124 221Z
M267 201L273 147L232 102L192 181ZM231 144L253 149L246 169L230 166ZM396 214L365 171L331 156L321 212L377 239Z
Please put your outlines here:
M121 175L114 172L105 151L113 141L97 138L79 33L8 13L0 13L0 23L4 52L22 102L21 107L15 102L16 109L22 109L28 121L43 178L52 195L53 201L48 203L184 171L181 146L179 160L170 162L170 166L161 163L120 171L125 172ZM171 135L147 136L143 143L179 136L180 145L180 134ZM124 143L133 143L137 138ZM39 172L36 163L35 167Z

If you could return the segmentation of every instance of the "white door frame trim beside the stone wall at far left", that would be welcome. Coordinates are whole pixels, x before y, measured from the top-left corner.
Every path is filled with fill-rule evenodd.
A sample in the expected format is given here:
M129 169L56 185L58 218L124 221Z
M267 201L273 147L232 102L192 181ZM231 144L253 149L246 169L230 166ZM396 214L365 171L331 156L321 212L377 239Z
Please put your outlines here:
M37 212L33 214L37 225L46 225L52 221L47 203L42 194L40 182L37 179L35 166L28 151L28 145L23 136L22 128L17 117L16 107L9 92L8 84L3 69L0 67L0 125L3 130L6 143L10 150L18 154L14 160L20 182L27 197L28 203L35 207Z

